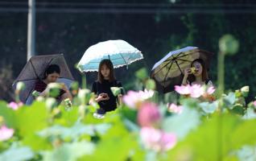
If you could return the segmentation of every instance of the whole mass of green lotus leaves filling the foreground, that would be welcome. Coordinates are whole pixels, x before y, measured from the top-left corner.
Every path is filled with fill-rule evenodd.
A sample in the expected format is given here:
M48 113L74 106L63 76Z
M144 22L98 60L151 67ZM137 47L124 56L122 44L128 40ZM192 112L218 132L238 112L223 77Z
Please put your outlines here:
M86 101L74 99L78 102L68 108L65 104L49 107L49 98L46 103L35 101L16 110L1 101L2 122L14 129L14 135L0 143L0 159L21 154L21 159L34 160L104 160L106 156L112 160L236 160L246 154L253 158L255 107L252 102L246 105L242 92L248 92L247 88L211 102L182 96L175 100L182 106L177 114L170 113L162 101L147 99L158 104L161 115L154 128L175 134L175 147L165 151L150 149L142 142L144 127L137 122L142 106L120 105L104 119L93 118L97 106L83 105L94 97L88 89L80 95Z

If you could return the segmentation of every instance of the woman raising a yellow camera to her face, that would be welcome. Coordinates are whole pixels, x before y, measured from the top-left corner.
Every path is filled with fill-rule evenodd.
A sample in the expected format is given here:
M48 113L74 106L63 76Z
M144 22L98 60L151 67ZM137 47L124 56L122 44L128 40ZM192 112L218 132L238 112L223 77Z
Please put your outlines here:
M194 60L190 68L185 68L182 85L213 85L212 81L209 81L204 60Z

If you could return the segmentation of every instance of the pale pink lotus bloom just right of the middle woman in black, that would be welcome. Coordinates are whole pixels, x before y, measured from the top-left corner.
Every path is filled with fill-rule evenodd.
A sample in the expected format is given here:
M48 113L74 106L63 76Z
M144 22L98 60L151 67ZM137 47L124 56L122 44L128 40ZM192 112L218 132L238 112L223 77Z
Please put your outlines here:
M147 100L148 98L154 95L153 90L144 91L128 91L128 93L122 98L126 105L128 105L131 109L136 109L140 106L142 101Z

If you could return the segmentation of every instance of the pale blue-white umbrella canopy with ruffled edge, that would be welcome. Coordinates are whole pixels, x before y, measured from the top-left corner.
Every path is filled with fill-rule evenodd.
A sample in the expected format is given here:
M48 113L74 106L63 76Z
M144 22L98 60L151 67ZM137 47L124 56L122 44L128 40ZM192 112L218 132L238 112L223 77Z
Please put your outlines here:
M142 52L122 39L108 40L89 47L79 61L77 68L81 72L97 71L101 60L109 59L114 68L122 67L142 60Z

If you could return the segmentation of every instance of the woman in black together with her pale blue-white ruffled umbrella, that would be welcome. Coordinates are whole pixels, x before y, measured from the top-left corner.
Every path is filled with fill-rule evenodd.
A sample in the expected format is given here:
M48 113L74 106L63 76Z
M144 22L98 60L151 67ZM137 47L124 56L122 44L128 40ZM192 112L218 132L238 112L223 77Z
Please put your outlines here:
M117 108L116 97L110 87L122 87L114 78L114 68L142 60L142 52L122 39L108 40L89 47L79 61L77 68L81 72L98 72L97 81L93 83L93 92L101 109L94 114L103 118L105 112ZM104 105L105 104L105 105Z

